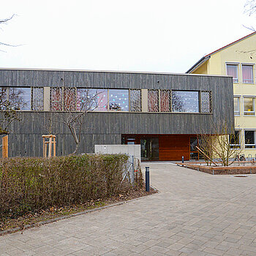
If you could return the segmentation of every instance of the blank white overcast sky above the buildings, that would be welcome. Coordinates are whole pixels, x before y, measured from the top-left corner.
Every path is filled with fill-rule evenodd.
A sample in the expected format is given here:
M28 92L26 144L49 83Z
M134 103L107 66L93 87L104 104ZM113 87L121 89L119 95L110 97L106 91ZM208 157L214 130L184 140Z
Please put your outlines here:
M186 72L256 27L245 0L0 0L0 67Z

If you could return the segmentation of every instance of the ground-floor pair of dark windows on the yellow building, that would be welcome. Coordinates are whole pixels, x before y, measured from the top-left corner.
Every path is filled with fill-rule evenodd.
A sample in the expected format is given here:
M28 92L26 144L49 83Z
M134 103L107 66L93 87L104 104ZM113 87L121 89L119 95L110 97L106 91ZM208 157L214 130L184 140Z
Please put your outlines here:
M234 135L230 135L231 148L241 148L241 130L236 130ZM256 148L256 130L244 130L244 148Z

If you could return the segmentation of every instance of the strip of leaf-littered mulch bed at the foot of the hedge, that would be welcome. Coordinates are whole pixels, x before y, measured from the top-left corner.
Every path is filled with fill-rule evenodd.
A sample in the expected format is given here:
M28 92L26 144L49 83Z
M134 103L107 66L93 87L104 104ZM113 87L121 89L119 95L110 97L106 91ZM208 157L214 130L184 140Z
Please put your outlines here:
M54 219L58 217L65 217L65 216L68 217L72 214L77 214L79 212L100 208L102 206L110 206L114 203L125 202L127 200L132 200L132 199L143 197L146 195L151 195L157 192L158 191L153 188L150 189L150 192L146 192L145 188L136 189L136 190L129 191L125 195L120 194L118 196L110 197L108 199L91 200L89 202L86 202L80 205L75 205L75 206L63 206L58 208L55 206L52 206L45 210L41 210L34 213L31 212L22 217L18 217L17 219L12 219L12 218L0 219L0 236L7 233L13 233L18 230L24 230L26 228L29 228L28 226L34 227L34 226L42 225L42 223L39 224L39 222L45 222L51 219L52 221L54 221Z

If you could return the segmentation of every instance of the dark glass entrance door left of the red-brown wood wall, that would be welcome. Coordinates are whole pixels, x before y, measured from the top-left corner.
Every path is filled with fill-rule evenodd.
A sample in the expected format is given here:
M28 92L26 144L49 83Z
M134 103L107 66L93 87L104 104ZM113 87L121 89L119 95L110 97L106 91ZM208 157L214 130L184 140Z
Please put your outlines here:
M158 138L140 139L140 154L142 161L159 159L159 141Z

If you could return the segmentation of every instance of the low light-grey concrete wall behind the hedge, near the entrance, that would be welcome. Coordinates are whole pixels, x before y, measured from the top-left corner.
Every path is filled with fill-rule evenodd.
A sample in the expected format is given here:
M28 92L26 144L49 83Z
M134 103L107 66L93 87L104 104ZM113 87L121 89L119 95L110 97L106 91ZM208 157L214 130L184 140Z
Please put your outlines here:
M95 145L95 153L102 154L129 154L140 160L140 145Z

